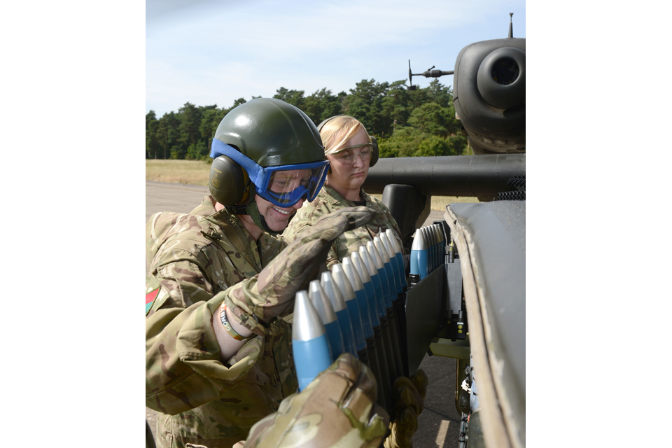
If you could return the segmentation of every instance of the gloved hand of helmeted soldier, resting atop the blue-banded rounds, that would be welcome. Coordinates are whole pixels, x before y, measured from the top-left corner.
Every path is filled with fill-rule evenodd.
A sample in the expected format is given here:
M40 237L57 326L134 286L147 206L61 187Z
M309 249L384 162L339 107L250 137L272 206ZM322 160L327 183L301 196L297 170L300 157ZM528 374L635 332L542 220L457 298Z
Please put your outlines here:
M258 335L267 334L267 323L293 309L297 291L307 289L308 283L317 278L333 241L373 217L374 212L366 207L349 207L321 216L259 274L230 288L226 306L246 328Z

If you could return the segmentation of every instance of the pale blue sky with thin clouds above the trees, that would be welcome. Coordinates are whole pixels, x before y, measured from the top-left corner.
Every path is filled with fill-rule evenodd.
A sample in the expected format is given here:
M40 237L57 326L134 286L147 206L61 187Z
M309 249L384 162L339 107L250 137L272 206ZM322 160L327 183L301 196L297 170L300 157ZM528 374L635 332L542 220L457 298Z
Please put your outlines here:
M507 36L508 13L514 37L525 37L519 0L148 0L146 112L230 107L279 87L349 92L362 79L407 79L408 59L414 73L452 70L465 45Z

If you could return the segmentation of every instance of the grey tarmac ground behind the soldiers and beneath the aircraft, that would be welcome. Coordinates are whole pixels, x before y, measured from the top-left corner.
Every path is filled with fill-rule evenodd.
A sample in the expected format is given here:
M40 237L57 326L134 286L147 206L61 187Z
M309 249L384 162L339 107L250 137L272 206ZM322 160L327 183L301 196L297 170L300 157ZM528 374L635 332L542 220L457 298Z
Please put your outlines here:
M145 221L158 211L188 213L208 194L208 188L180 183L145 183ZM442 211L432 211L423 225L443 218ZM413 436L415 448L456 448L460 431L460 414L455 408L456 360L425 355L420 368L429 379L425 407L418 418ZM146 419L152 431L156 413L146 408Z

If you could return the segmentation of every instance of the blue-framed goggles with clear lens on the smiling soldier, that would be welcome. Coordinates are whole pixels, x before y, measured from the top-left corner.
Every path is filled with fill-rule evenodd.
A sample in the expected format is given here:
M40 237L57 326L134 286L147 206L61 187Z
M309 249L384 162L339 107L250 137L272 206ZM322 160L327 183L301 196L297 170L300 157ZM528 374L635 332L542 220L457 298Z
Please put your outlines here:
M211 158L225 155L240 165L254 184L255 192L277 207L292 207L302 198L312 201L324 185L329 168L328 160L260 167L254 160L237 151L236 148L212 139Z

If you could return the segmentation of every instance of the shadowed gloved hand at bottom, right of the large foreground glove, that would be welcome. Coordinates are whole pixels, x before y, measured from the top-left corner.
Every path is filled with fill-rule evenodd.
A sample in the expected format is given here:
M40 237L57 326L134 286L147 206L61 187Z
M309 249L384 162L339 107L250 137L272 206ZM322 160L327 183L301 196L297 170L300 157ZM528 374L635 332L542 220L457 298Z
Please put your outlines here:
M394 381L393 394L396 400L397 417L390 424L391 434L385 439L385 448L411 448L412 438L418 429L418 416L424 409L427 393L427 375L422 369Z

